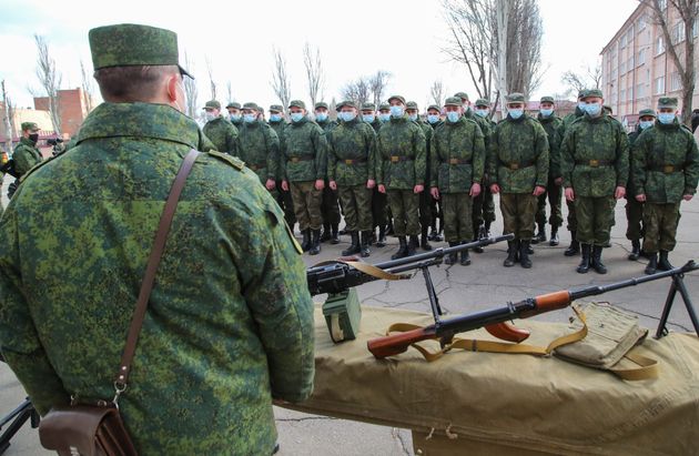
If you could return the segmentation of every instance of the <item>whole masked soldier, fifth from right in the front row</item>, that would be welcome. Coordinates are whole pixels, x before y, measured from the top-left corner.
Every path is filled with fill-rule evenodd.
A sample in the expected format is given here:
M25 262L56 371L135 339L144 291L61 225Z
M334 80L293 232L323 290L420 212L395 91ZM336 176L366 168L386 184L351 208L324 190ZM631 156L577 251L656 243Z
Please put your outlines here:
M405 99L393 95L391 120L381 128L377 139L376 181L378 191L388 194L394 230L399 249L392 259L413 255L418 245L419 193L425 190L425 133L405 114ZM411 236L409 244L406 235Z

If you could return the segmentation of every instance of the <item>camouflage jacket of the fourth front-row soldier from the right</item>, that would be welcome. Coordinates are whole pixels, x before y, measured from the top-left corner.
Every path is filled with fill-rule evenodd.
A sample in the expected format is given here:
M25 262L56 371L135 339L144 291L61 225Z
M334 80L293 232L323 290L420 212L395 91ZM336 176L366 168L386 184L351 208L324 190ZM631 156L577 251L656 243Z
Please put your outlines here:
M473 183L483 181L485 143L476 122L460 118L444 122L432 138L430 186L443 193L468 193Z

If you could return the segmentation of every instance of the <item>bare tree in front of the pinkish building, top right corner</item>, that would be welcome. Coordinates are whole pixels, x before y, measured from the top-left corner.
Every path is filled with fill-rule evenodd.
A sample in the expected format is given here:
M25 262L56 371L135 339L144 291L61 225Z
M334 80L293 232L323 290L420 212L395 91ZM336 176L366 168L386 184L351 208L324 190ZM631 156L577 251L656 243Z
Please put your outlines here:
M692 29L699 17L699 0L640 0L652 12L655 22L662 30L666 51L677 68L682 87L681 122L691 126L692 94L695 93L695 40ZM680 21L673 27L668 23L672 7ZM670 30L672 28L672 30Z

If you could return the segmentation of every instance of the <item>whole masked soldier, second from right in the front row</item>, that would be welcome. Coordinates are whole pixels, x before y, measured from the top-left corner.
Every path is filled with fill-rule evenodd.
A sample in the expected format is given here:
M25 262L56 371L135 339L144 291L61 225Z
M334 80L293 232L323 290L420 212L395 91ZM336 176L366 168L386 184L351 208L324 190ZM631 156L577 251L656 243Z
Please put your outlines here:
M629 175L629 139L624 126L602 112L599 89L585 93L586 113L566 131L560 144L566 200L575 203L581 244L578 273L590 266L606 274L601 252L609 242L616 200L624 197Z

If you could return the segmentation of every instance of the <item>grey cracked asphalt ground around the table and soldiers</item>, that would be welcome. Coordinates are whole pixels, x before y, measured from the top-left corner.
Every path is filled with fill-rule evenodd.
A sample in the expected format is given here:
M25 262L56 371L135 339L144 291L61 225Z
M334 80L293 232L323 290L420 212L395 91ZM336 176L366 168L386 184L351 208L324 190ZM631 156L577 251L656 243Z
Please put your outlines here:
M4 195L4 191L3 191ZM494 233L502 231L502 221L494 225ZM561 232L561 243L557 247L536 246L534 267L524 270L518 265L511 268L502 266L506 245L495 245L486 253L472 254L473 264L464 267L454 265L433 270L433 278L444 310L452 314L468 313L507 301L516 301L560 288L570 288L591 283L609 283L642 275L645 261L630 262L626 259L630 249L625 239L626 220L624 203L617 205L617 226L612 230L612 246L604 252L604 260L610 272L598 275L595 272L581 275L575 272L578 259L563 255L569 242L568 233ZM699 259L699 200L685 203L679 229L680 243L671 255L673 264L680 265L690 259ZM347 236L340 245L323 245L321 255L304 255L307 265L323 260L332 260L346 249ZM396 251L396 240L384 249L374 249L369 262L386 261ZM444 244L443 244L444 245ZM699 274L687 280L690 294L699 307ZM662 310L669 286L668 281L658 281L608 293L598 300L609 301L637 313L642 324L655 330ZM399 285L388 282L374 282L358 288L364 305L402 307L429 311L422 276L412 281L401 281ZM322 296L316 300L321 301ZM543 321L567 321L567 311L538 316ZM678 301L670 315L672 331L689 331L691 323L681 301ZM6 365L0 366L0 413L11 411L21 399L23 392ZM407 430L365 425L361 423L305 415L276 408L280 430L281 455L324 454L324 455L403 455L412 454L411 434ZM40 449L36 432L24 426L12 440L8 455L44 454Z

